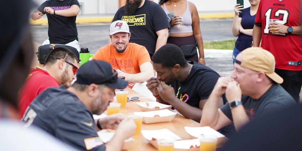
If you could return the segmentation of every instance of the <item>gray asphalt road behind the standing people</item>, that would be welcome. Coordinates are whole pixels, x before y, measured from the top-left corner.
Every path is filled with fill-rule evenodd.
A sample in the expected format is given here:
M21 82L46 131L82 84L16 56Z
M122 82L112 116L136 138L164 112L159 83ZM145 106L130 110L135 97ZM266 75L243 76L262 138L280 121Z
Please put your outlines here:
M201 20L201 34L204 41L234 39L231 28L232 19ZM109 23L77 24L80 47L87 47L95 53L108 44ZM42 44L48 39L48 25L32 26L34 41ZM232 59L206 58L206 65L217 71L220 76L230 76L233 71Z

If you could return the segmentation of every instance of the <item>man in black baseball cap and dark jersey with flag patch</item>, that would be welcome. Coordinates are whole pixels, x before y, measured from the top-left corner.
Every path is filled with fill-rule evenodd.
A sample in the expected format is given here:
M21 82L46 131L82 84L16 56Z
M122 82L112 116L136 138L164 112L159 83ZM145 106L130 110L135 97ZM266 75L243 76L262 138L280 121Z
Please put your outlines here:
M121 150L124 140L136 129L133 120L122 114L93 119L113 101L115 88L124 89L128 82L118 79L109 63L92 60L78 70L76 82L66 89L48 88L30 104L21 121L46 130L58 139L79 150ZM116 129L105 145L98 137L101 129Z

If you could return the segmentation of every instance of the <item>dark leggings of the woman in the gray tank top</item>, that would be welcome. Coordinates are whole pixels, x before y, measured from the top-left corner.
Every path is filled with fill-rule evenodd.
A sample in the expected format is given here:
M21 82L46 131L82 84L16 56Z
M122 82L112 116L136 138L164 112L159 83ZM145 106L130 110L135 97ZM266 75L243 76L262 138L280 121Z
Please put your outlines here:
M169 37L167 43L175 44L178 47L185 46L185 45L194 45L196 43L194 36L188 37ZM197 52L198 53L198 52ZM187 61L195 61L198 62L198 55L194 55L191 58L186 58Z

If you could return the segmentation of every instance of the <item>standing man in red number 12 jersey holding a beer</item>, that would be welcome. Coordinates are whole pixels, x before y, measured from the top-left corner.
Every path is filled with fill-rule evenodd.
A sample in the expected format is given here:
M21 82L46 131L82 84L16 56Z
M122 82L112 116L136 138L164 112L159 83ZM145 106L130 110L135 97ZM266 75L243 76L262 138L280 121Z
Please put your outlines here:
M270 51L282 87L299 102L302 85L301 0L261 0L253 29L254 47ZM269 19L279 19L269 24ZM275 28L271 28L275 27ZM271 29L270 29L271 28Z

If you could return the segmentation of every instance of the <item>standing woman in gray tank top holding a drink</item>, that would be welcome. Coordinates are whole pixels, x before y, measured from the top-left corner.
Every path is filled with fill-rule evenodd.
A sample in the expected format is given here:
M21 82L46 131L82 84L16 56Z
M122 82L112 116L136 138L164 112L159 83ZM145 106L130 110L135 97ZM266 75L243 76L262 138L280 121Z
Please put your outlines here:
M166 14L171 12L175 14L175 17L170 21L171 34L167 43L172 43L181 47L186 60L205 65L204 47L196 6L188 0L159 0L159 5L164 9ZM190 54L186 55L185 52L191 51L192 47L182 46L193 46L196 43L199 51L199 58L195 49Z

